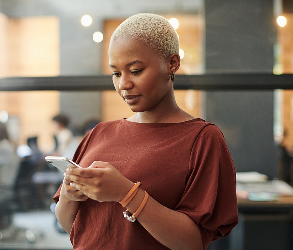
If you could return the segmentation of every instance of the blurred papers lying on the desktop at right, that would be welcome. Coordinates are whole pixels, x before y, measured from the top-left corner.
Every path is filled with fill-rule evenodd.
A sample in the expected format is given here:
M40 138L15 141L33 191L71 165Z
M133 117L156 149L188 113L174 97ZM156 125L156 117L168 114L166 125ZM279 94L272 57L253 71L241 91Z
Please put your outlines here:
M268 180L258 172L239 172L237 178L237 197L253 201L273 201L279 196L293 195L293 187L282 180Z

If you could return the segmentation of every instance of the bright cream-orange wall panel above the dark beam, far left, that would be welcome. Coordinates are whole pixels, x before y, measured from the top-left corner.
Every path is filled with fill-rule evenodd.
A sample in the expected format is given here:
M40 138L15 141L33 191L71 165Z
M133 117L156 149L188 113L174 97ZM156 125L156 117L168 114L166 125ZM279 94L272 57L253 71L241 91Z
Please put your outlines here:
M59 20L54 16L9 19L8 76L58 76Z

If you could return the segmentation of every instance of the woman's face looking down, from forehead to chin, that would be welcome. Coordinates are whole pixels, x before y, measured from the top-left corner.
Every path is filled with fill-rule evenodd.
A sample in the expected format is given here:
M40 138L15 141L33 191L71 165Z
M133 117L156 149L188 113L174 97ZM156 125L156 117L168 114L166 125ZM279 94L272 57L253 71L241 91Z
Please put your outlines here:
M109 63L116 91L134 112L150 111L168 100L170 64L149 45L130 37L114 39Z

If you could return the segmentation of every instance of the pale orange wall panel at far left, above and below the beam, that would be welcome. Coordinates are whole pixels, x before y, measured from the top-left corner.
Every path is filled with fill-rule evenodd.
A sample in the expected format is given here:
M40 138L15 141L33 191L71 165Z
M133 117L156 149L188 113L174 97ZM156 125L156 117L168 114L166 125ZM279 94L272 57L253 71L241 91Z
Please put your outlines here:
M59 33L54 16L13 19L1 14L0 77L58 76ZM59 96L59 91L0 92L0 111L19 121L17 144L38 136L40 148L52 149L51 119L59 113Z

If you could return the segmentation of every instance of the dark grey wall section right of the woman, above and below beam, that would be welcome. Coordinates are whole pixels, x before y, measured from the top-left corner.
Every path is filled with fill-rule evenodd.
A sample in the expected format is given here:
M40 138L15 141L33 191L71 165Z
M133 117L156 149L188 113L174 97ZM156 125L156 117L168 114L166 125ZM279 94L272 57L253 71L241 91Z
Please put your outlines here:
M209 0L205 13L207 73L272 73L273 0ZM206 118L223 131L236 170L277 177L273 91L208 91L206 105Z

